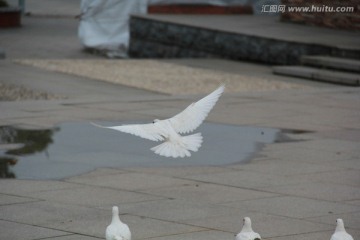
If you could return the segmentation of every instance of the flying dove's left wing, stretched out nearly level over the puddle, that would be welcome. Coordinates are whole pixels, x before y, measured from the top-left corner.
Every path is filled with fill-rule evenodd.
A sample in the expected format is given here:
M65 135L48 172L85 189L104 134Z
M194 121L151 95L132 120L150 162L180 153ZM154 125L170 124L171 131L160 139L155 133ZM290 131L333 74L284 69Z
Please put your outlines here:
M149 139L152 141L162 141L164 140L163 135L161 134L161 130L153 123L147 124L129 124L129 125L120 125L120 126L101 126L96 123L91 123L94 126L101 128L114 129L124 133L130 133L132 135L142 137L145 139Z

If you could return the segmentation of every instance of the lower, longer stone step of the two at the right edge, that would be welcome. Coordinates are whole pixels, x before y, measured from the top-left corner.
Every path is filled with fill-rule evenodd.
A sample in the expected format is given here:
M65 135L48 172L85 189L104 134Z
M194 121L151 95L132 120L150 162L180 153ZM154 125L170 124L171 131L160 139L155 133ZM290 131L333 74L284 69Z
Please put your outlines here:
M335 84L360 86L360 74L355 73L339 72L305 66L276 66L273 67L273 73Z

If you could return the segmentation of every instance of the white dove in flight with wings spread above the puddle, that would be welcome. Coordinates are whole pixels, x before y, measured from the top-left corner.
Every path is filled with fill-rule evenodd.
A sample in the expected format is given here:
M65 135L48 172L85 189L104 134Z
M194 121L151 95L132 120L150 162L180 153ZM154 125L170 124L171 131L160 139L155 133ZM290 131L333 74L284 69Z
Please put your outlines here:
M98 127L118 130L130 133L152 141L164 141L162 144L151 148L156 154L165 157L190 157L190 151L196 152L201 146L201 133L181 136L194 131L205 120L220 95L224 92L225 86L221 85L215 91L190 104L185 110L172 118L159 120L155 119L153 123L130 124L121 126L104 127L94 124Z

